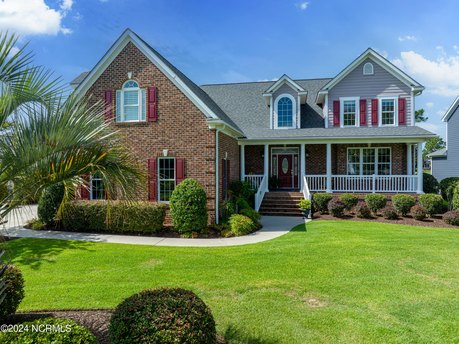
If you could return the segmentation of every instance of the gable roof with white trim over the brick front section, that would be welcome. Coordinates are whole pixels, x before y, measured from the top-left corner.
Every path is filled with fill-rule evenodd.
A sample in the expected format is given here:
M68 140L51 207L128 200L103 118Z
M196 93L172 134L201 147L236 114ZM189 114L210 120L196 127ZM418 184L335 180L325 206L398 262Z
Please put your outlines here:
M213 122L222 121L235 132L242 134L241 130L235 125L231 118L229 118L198 85L191 81L185 74L172 65L131 29L126 29L121 34L84 78L80 78L80 75L73 80L73 82L76 83L76 81L78 81L77 79L82 79L81 83L76 87L75 92L78 95L84 95L128 43L134 44L134 46L158 67L158 69L161 70L161 72L163 72L164 75L204 113L207 119Z

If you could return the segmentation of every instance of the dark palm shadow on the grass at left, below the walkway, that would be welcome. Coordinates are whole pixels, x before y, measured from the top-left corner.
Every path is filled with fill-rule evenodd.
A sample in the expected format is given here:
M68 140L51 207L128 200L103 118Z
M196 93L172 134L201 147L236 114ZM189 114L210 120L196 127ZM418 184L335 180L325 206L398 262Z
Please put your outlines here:
M30 239L5 240L0 237L0 247L6 250L5 258L13 263L39 269L43 263L54 263L55 257L65 250L94 251L94 244L86 241L69 241L57 239Z

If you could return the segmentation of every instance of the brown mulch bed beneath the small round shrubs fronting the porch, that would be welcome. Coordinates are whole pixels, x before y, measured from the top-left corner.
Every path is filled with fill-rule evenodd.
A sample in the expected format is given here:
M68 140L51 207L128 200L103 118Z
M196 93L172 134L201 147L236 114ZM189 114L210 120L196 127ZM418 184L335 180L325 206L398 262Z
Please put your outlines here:
M329 214L320 214L319 212L314 213L314 221L316 220L350 220L350 221L377 221L382 223L392 223L397 225L410 225L410 226L423 226L423 227L437 227L437 228L454 228L459 229L457 226L452 226L445 223L441 215L435 215L427 218L424 221L418 221L413 219L410 215L406 217L399 217L398 220L386 220L381 215L373 217L371 219L361 219L353 214L347 214L342 218L336 218Z

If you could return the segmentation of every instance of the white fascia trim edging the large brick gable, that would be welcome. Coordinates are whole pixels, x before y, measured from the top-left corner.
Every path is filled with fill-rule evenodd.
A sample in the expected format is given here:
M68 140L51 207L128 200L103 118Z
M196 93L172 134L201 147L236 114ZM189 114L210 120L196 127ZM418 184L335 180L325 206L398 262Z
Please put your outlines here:
M91 72L86 76L83 82L75 89L75 93L78 98L81 98L89 88L94 84L94 82L100 77L100 75L107 69L110 63L118 56L118 54L126 47L126 45L132 42L148 59L155 64L156 67L167 76L167 78L172 81L172 83L177 86L187 97L190 99L194 105L200 109L204 115L208 118L218 119L218 116L209 109L209 107L204 104L197 96L194 94L188 86L168 67L161 61L158 56L153 54L153 52L148 49L148 47L143 43L140 38L130 29L127 29L123 34L116 40L116 42L110 47L110 49L105 53L105 55L97 62Z

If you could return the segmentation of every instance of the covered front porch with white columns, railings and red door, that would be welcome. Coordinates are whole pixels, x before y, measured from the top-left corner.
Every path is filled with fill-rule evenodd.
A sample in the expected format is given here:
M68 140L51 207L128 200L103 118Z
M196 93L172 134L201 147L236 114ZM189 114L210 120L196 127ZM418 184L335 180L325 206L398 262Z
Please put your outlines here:
M241 180L265 192L422 193L422 142L241 143Z

